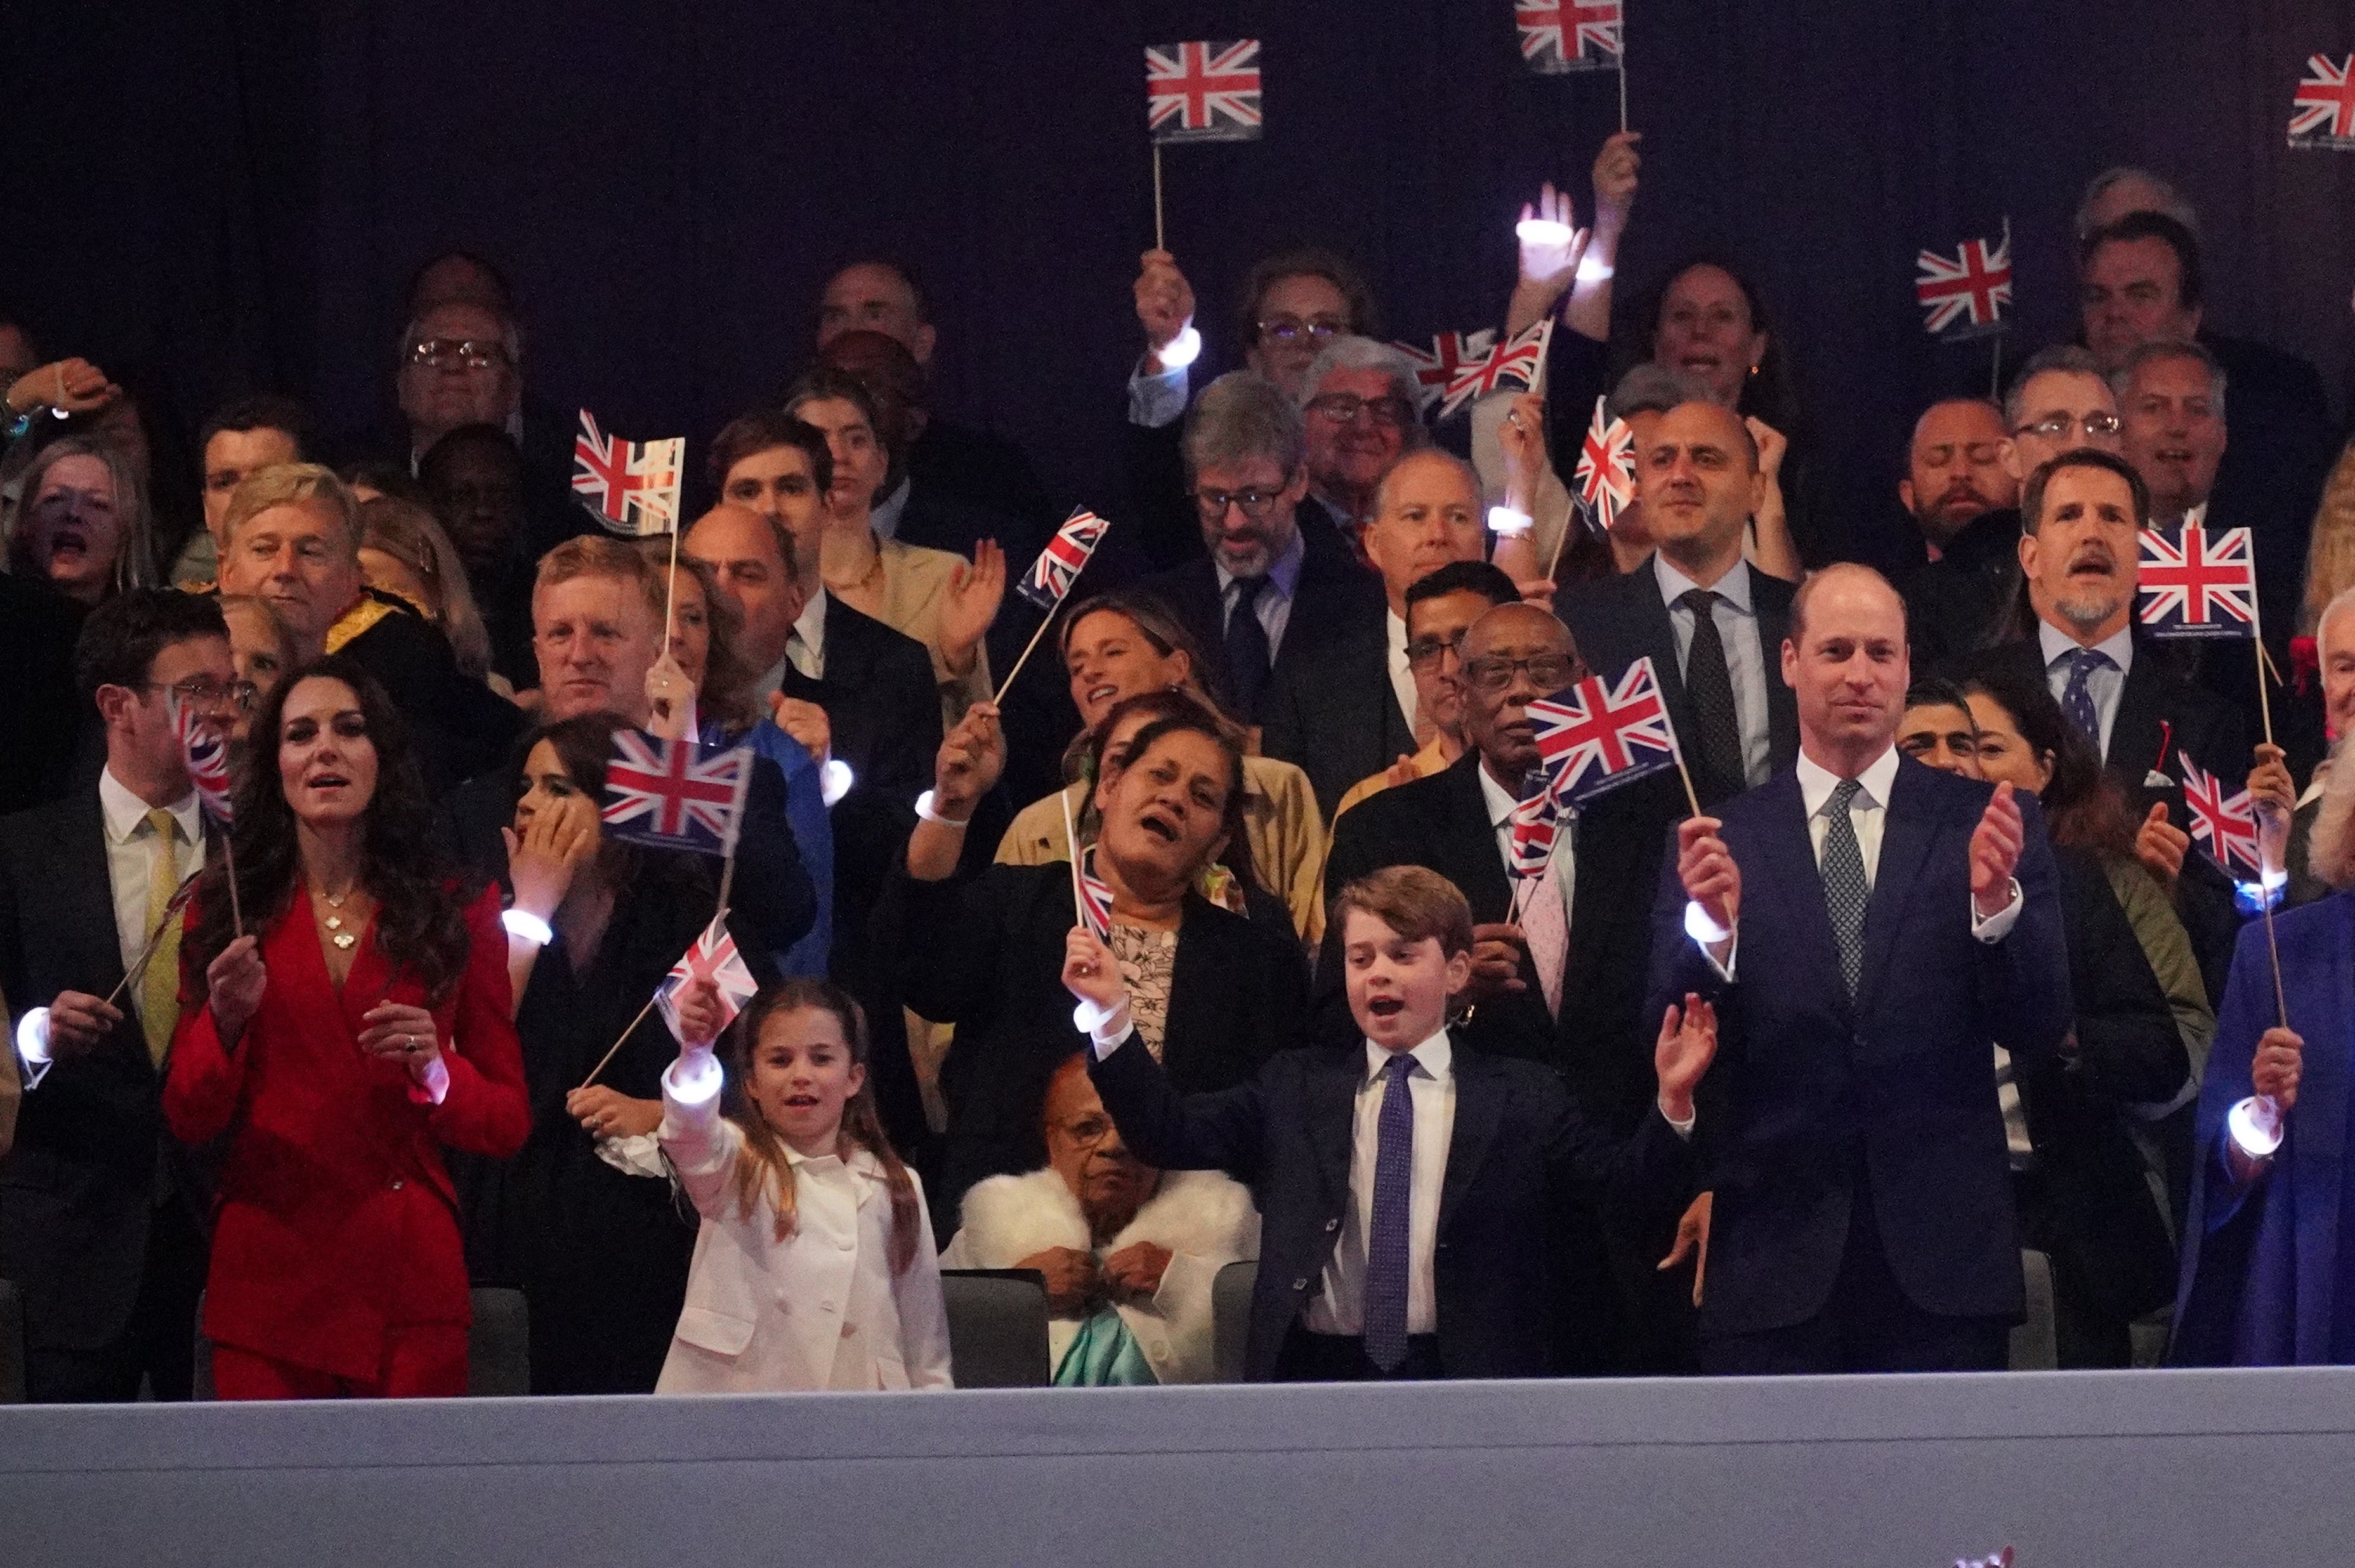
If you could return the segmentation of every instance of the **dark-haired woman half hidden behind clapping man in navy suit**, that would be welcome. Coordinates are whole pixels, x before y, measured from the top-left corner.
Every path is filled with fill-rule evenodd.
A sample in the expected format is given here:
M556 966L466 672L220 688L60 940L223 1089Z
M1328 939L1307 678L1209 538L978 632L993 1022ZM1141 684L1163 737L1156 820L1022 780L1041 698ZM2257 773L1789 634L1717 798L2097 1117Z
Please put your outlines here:
M2141 888L2150 873L2134 859L2134 817L2051 690L1997 662L1962 685L1981 777L2044 808L2068 916L2075 1034L2061 1062L2018 1083L1997 1062L2021 1227L2054 1262L2061 1366L2129 1366L2129 1323L2164 1307L2176 1281L2138 1135L2197 1083L2185 1036L2204 1055L2216 1024L2181 923L2169 989L2143 954L2129 897L2160 911L2167 899ZM2195 1003L2197 1017L2181 1017Z

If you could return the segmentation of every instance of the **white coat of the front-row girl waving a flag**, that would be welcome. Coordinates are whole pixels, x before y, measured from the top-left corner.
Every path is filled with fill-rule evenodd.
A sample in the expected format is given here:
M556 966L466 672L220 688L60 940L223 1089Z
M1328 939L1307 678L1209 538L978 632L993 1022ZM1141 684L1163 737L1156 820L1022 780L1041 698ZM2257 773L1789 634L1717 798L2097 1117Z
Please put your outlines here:
M657 1394L954 1387L921 1184L916 1257L893 1274L890 1189L874 1154L787 1151L798 1224L777 1241L765 1187L749 1217L737 1203L744 1132L721 1116L716 1095L681 1102L664 1074L659 1140L704 1224Z

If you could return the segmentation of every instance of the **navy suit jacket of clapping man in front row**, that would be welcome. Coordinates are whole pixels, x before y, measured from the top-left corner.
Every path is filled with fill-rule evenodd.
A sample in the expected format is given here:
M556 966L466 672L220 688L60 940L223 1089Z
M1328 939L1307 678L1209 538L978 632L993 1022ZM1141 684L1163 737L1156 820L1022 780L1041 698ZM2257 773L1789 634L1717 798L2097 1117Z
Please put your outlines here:
M2070 1024L2068 949L2044 817L2021 798L2023 909L2002 942L1971 935L1969 845L1992 789L1900 760L1882 831L1851 1003L1809 843L1799 775L1722 810L1743 873L1733 982L1684 935L1674 857L1653 904L1658 1017L1686 991L1717 1003L1705 1099L1717 1194L1707 1337L1790 1328L1823 1311L1858 1175L1889 1269L1924 1311L2018 1316L2021 1241L1990 1041L2023 1074ZM1719 1111L1719 1107L1724 1107Z

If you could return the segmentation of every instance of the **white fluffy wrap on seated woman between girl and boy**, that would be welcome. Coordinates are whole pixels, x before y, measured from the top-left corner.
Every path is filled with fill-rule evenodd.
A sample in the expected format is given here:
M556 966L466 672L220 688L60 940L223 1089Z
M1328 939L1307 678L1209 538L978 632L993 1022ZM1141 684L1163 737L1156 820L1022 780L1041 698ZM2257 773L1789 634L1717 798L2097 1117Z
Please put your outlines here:
M1088 1241L1088 1217L1055 1170L975 1182L958 1215L944 1269L1013 1269L1046 1248L1104 1260L1137 1241L1170 1250L1161 1290L1149 1302L1121 1302L1121 1321L1161 1382L1210 1382L1210 1281L1227 1264L1260 1255L1260 1210L1251 1189L1215 1170L1166 1170L1161 1189L1102 1248ZM1048 1318L1050 1366L1079 1337L1079 1318Z

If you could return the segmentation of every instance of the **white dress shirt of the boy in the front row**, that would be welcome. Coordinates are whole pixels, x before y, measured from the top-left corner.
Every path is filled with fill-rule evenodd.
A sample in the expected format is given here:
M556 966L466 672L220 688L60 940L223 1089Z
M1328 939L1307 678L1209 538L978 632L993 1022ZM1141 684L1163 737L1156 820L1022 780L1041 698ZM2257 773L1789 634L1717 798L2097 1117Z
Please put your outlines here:
M1439 1290L1432 1255L1439 1245L1439 1191L1448 1177L1448 1144L1455 1137L1455 1050L1448 1031L1415 1045L1406 1097L1415 1107L1415 1170L1406 1198L1406 1333L1439 1333ZM1316 1335L1366 1333L1366 1236L1373 1231L1373 1163L1382 1149L1382 1095L1389 1090L1389 1052L1366 1041L1366 1076L1356 1083L1349 1137L1349 1208L1340 1241L1326 1262L1324 1283L1309 1297L1302 1326Z

